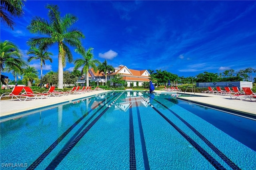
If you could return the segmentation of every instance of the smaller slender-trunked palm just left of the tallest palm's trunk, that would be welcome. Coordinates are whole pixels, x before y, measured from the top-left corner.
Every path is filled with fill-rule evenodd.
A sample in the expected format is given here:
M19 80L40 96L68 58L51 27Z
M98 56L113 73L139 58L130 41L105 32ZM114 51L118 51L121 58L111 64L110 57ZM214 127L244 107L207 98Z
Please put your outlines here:
M40 78L40 86L42 86L42 76L43 76L43 64L45 66L45 60L50 60L52 63L52 58L50 55L53 55L51 52L43 51L41 48L32 47L28 51L27 54L33 54L35 56L31 56L28 58L28 62L32 61L32 59L40 59L41 66L41 78Z

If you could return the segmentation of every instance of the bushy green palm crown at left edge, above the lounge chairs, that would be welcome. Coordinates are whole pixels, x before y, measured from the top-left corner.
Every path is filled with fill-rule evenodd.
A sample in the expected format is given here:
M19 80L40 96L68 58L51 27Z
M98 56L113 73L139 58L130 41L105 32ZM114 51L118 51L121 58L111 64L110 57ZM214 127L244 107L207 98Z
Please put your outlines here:
M9 41L0 42L0 75L1 71L21 71L25 62L22 60L18 47Z

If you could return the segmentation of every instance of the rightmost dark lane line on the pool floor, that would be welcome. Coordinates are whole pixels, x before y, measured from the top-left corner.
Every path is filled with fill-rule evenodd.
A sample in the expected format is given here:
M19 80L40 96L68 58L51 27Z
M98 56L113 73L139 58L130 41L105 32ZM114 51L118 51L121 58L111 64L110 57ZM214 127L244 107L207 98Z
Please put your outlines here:
M150 96L148 96L148 97L150 97ZM152 97L150 97L150 98L153 99ZM234 162L232 162L232 160L230 160L224 153L222 153L216 146L214 146L214 144L212 144L206 137L204 137L200 132L198 132L188 122L186 122L184 119L182 119L182 117L177 115L177 113L175 113L174 111L172 111L171 109L169 109L167 106L160 103L156 99L153 99L153 100L156 101L157 103L159 103L160 105L162 105L163 107L165 107L166 109L168 109L168 111L170 111L178 119L180 119L180 121L182 121L185 125L187 125L187 127L189 127L199 138L201 138L222 160L224 160L224 162L226 162L226 164L228 164L228 166L230 166L230 168L232 168L233 170L241 170ZM168 99L166 99L166 100L168 100Z

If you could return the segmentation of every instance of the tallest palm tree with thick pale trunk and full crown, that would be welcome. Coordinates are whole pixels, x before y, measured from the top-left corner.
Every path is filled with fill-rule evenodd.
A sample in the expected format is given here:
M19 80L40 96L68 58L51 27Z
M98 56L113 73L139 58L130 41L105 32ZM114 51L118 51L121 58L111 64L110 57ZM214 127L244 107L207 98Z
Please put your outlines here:
M50 22L44 20L44 18L35 17L28 26L28 30L31 33L42 34L46 37L30 38L28 45L36 46L43 44L43 50L54 44L58 45L58 89L63 89L63 67L66 65L66 59L70 63L73 61L73 56L68 45L78 49L84 49L81 40L85 36L77 29L70 29L72 24L78 20L76 16L66 14L64 17L60 17L60 12L56 5L47 4L46 8L49 9L48 17Z

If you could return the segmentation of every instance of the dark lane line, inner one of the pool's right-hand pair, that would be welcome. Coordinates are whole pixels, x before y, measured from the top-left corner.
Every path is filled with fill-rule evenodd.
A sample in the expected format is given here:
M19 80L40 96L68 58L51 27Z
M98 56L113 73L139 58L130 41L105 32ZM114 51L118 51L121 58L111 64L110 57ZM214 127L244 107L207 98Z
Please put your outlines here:
M144 99L142 96L140 96L144 101L146 101L146 99ZM172 127L174 127L188 142L190 142L190 144L192 144L192 146L194 146L194 148L196 148L196 150L198 152L200 152L200 154L202 154L202 156L204 156L204 158L206 158L206 160L208 160L208 162L210 162L210 164L212 164L212 166L214 166L214 168L216 168L217 170L226 170L226 168L224 168L216 159L214 159L208 152L206 152L206 150L204 150L199 144L197 144L192 138L190 138L185 132L183 132L180 128L178 128L174 123L172 123L172 121L170 121L166 116L164 116L164 114L162 114L160 111L158 111L152 104L150 104L148 101L146 101L159 115L161 115L170 125L172 125Z

